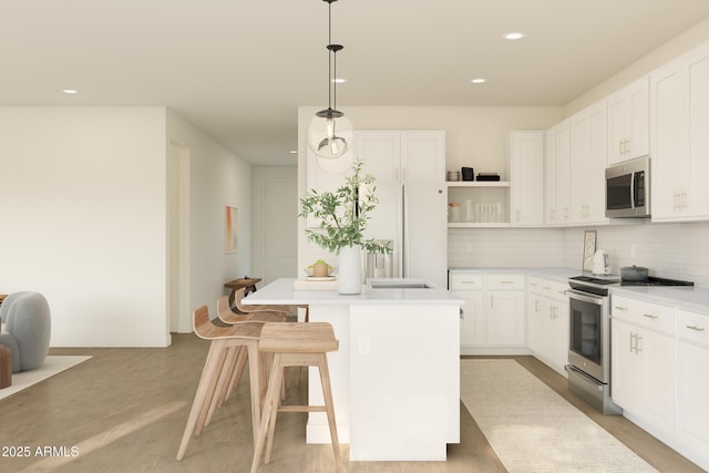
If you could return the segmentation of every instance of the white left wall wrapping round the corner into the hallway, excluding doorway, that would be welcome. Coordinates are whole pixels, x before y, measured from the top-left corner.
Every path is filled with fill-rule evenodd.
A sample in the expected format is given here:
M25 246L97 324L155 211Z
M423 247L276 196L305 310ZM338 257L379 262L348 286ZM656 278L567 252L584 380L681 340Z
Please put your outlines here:
M169 345L171 141L189 154L185 306L250 271L250 166L165 107L0 107L0 291L45 295L52 347Z

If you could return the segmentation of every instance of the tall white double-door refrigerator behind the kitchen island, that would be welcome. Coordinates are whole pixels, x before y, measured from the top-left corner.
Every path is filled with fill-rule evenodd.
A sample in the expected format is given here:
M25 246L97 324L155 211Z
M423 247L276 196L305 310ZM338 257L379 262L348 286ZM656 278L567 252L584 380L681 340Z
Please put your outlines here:
M445 183L377 182L379 204L366 238L391 240L387 277L448 286L448 188Z

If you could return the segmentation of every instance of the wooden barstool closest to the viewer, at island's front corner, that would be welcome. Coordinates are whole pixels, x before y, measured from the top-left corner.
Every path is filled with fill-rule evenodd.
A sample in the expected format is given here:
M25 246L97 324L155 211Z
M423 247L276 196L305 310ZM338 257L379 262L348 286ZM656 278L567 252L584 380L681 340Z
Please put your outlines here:
M332 326L327 322L286 322L266 323L264 326L258 350L261 353L273 354L274 360L270 368L270 381L264 401L261 420L258 426L256 446L254 449L251 473L258 471L266 438L268 438L268 445L266 446L265 463L270 462L274 431L276 429L276 415L279 411L326 412L330 426L335 464L338 472L342 471L327 359L327 353L329 351L337 351L338 346ZM287 367L319 368L325 405L280 405L279 387L282 382L284 369Z

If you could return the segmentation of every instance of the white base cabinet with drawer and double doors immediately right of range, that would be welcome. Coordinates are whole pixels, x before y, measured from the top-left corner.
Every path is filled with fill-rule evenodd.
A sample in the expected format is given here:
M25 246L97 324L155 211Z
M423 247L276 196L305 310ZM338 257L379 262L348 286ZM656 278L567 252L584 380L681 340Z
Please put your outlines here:
M640 426L675 428L675 309L612 296L613 400Z

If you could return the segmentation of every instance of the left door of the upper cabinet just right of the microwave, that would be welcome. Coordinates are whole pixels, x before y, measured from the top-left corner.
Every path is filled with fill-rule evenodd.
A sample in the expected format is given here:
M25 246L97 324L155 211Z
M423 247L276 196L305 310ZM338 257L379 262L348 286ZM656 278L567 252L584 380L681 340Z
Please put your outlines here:
M653 220L681 217L688 168L685 145L682 61L672 61L650 74L650 155Z

